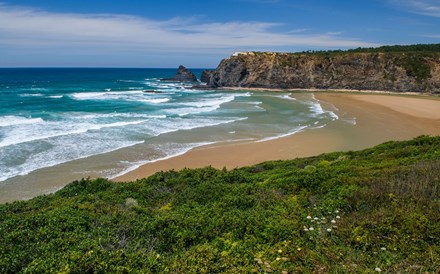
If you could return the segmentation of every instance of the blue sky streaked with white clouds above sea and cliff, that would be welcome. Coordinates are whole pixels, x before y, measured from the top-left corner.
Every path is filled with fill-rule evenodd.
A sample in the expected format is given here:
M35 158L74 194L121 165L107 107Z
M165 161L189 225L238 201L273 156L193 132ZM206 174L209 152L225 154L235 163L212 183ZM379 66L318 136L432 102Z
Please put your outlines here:
M0 67L215 68L237 51L440 43L440 0L0 0Z

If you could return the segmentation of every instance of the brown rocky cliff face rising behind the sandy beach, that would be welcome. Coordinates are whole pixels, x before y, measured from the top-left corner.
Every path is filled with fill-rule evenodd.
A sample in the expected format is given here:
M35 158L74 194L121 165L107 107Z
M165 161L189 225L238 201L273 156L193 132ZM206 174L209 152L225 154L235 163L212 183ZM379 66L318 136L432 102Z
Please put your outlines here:
M208 86L440 93L440 53L236 53Z

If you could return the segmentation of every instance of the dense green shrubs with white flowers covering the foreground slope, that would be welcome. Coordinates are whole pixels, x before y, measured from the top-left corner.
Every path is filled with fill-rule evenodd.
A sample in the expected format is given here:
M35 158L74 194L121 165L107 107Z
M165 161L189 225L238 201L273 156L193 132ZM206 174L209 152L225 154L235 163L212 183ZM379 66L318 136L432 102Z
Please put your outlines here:
M81 180L0 206L0 272L438 273L439 197L440 137L426 136L231 171Z

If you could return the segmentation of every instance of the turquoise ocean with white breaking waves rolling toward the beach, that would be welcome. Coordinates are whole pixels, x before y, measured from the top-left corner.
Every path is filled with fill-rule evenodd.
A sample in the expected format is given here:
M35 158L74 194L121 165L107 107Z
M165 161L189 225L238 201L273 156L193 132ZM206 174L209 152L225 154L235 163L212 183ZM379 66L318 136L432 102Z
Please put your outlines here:
M47 193L54 189L36 188L113 178L195 147L261 142L338 119L311 93L194 90L160 80L175 72L0 69L0 197L4 186Z

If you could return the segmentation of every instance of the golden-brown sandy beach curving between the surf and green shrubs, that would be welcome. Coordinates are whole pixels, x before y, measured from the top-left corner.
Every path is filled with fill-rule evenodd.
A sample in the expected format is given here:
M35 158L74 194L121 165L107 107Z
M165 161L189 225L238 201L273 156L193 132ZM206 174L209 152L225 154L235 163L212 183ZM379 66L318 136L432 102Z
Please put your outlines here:
M185 167L232 169L268 160L358 150L419 135L440 135L440 100L436 97L319 92L315 96L324 109L336 108L339 119L325 127L280 139L196 148L181 156L143 165L114 181L132 181L161 170Z

